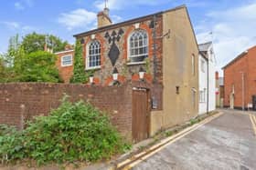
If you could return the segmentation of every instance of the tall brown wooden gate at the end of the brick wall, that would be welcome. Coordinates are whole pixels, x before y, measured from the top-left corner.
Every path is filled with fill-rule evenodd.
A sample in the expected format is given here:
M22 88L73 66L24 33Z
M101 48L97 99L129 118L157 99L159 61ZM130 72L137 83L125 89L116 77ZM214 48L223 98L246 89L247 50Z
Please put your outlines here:
M150 94L144 88L133 88L133 142L149 136Z

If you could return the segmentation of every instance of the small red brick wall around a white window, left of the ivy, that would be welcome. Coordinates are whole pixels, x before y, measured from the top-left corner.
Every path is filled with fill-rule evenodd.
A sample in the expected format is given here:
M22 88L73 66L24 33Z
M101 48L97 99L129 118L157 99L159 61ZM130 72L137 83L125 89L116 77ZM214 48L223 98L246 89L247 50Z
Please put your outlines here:
M59 69L59 75L62 78L62 80L64 81L64 83L69 83L69 80L73 75L74 66L73 65L61 66L61 57L65 56L65 55L72 55L72 58L73 58L72 61L73 61L73 65L74 65L74 51L68 51L68 52L63 52L63 53L57 54L58 59L57 59L56 65Z

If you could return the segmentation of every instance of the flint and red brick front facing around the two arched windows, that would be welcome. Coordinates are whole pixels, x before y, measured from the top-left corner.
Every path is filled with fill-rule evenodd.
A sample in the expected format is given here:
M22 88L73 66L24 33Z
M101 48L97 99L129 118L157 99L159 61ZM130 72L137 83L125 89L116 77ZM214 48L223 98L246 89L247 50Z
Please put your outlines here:
M154 76L154 39L153 39L153 31L154 28L150 28L152 18L151 19L146 19L143 20L139 23L135 23L133 25L121 25L119 27L116 27L114 29L108 29L105 31L99 31L95 34L90 34L90 35L85 35L79 37L80 39L84 39L84 44L83 44L83 58L84 61L86 61L85 57L87 56L87 48L88 45L91 43L92 40L97 40L101 43L101 69L95 69L94 70L94 77L98 78L100 80L101 85L111 85L111 79L112 79L112 71L114 67L118 69L118 72L120 75L123 76L123 79L126 81L129 80L134 80L133 75L137 75L139 73L139 68L140 66L143 66L144 68L146 67L145 64L139 64L139 65L129 65L128 61L128 39L129 35L133 33L134 30L136 29L143 29L147 32L148 38L149 38L149 70L148 70L148 78L147 81L149 83L152 83L153 76ZM156 37L161 37L163 34L163 23L162 23L162 17L157 17L156 20L156 25L155 25L155 31L156 31ZM136 28L136 25L139 25ZM111 49L111 45L108 42L108 38L105 37L106 33L109 33L112 35L112 32L115 31L116 33L119 32L120 29L123 29L123 35L120 38L120 41L116 41L115 44L117 45L120 55L119 58L114 66L111 64L111 60L108 57L108 53ZM94 38L94 39L93 39ZM155 70L156 74L155 76L157 77L157 80L159 80L158 83L162 83L163 79L163 70L162 70L162 39L161 38L155 38L155 55L156 55L156 60L155 60ZM151 82L150 82L151 81Z

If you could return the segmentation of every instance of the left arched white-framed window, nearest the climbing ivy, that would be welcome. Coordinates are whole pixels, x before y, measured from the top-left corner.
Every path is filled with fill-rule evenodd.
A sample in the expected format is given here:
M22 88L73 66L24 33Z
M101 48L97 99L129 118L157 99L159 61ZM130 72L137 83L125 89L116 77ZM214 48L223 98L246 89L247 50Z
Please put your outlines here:
M92 41L88 46L86 57L86 68L93 69L101 66L101 44L98 41Z

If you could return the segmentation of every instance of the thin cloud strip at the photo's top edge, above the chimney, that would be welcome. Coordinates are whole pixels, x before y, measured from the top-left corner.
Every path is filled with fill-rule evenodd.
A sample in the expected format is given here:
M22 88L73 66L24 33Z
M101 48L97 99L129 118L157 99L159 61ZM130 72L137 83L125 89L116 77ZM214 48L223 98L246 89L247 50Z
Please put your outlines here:
M135 0L135 1L127 1L127 0L109 0L108 7L112 10L119 10L123 9L128 6L133 5L159 5L165 4L170 2L171 0L159 1L159 0ZM97 0L95 1L94 5L99 9L102 10L105 6L104 0Z

